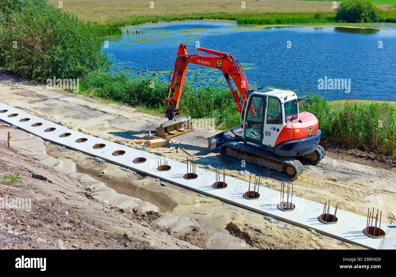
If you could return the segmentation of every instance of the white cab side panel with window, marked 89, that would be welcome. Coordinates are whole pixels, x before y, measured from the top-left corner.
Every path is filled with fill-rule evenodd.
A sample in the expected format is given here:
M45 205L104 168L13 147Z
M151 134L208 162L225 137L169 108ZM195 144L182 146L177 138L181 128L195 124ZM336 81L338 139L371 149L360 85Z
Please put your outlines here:
M283 130L283 105L279 98L268 96L268 105L263 129L263 144L273 148Z

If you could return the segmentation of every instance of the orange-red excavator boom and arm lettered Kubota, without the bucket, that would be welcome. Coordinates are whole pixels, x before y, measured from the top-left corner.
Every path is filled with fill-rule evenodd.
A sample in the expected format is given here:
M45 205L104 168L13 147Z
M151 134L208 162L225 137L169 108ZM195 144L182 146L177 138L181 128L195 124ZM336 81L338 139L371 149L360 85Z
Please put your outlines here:
M236 58L231 56L231 54L229 53L219 52L202 47L190 48L194 48L198 51L206 52L208 54L213 54L215 56L202 56L199 54L189 55L187 52L187 47L190 46L186 46L185 43L182 43L179 46L175 67L173 68L171 84L169 87L169 95L166 99L166 117L168 117L169 120L173 120L175 119L175 116L179 115L179 102L181 94L183 92L184 79L186 77L188 63L195 63L208 67L213 67L223 72L228 87L230 88L232 96L234 98L236 108L239 112L242 112L242 115L244 115L244 106L249 96L250 86L247 82L245 73L242 70L242 66L240 65L238 60L236 60ZM234 81L238 90L234 89L234 86L231 83L231 78ZM174 95L173 98L171 98L171 91L173 88Z

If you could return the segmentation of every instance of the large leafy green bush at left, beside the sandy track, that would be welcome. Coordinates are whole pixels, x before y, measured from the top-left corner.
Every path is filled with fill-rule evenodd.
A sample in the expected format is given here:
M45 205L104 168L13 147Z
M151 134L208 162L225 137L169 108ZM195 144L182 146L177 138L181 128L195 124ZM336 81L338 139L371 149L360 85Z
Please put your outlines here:
M31 79L79 78L109 68L95 27L46 0L0 0L0 4L2 64L16 74Z

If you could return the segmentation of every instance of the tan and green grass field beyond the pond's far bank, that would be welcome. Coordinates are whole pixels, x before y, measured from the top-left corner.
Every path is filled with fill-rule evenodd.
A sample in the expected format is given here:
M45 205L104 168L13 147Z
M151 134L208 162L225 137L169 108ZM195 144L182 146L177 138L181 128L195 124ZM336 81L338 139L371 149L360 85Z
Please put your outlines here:
M58 6L58 0L50 0ZM379 0L381 1L381 0ZM383 0L395 2L396 0ZM300 0L156 0L150 8L147 0L64 0L63 10L74 13L79 19L107 26L123 26L145 23L158 19L232 19L238 23L249 24L287 24L332 22L326 17L333 16L331 1ZM396 6L376 4L380 10L393 11ZM324 13L325 18L316 18L317 12ZM395 15L396 17L396 15ZM279 21L276 21L276 19ZM270 20L268 20L270 19ZM274 21L275 19L275 21Z

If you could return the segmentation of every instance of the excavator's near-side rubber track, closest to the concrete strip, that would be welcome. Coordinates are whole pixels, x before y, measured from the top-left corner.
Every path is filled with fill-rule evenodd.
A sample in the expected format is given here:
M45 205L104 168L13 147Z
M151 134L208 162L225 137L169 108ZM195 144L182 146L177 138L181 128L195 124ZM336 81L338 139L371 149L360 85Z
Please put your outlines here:
M301 162L299 160L296 160L293 157L289 158L289 157L278 156L278 155L268 152L266 150L262 150L257 147L254 147L254 146L249 146L248 144L245 144L243 142L236 142L236 141L228 142L228 143L225 143L222 146L220 146L221 157L223 159L231 161L231 162L240 163L241 161L238 158L228 156L225 153L227 148L234 148L234 149L239 150L240 152L245 152L246 154L251 154L253 156L258 156L258 155L263 156L266 158L267 162L268 162L268 160L273 160L276 162L280 162L282 164L290 165L295 169L295 174L293 176L291 176L291 175L287 174L286 170L284 170L284 172L286 173L287 176L291 176L291 180L297 179L304 171L303 164L301 164ZM252 163L249 163L249 164L252 164ZM257 165L259 167L263 167L259 164L255 164L255 165ZM275 165L275 167L276 166L277 165ZM269 169L271 169L271 168L269 168ZM276 169L273 169L273 170L276 170Z

